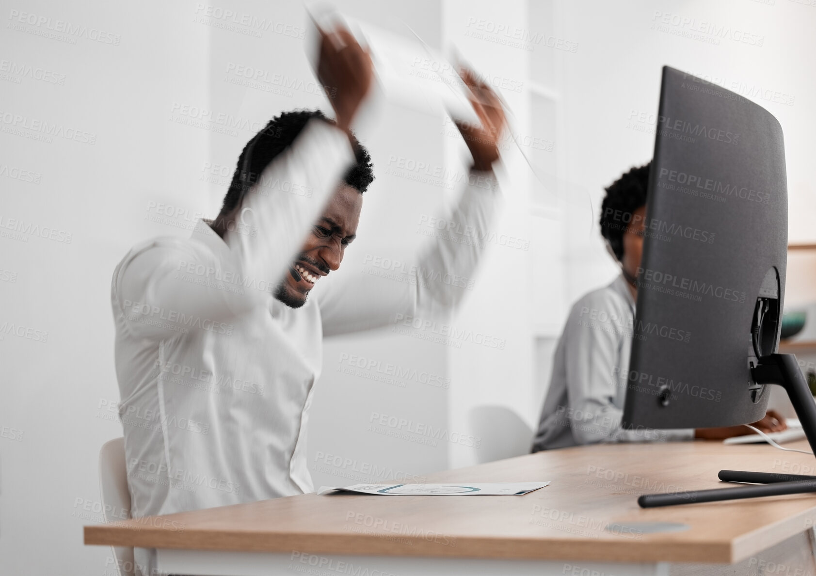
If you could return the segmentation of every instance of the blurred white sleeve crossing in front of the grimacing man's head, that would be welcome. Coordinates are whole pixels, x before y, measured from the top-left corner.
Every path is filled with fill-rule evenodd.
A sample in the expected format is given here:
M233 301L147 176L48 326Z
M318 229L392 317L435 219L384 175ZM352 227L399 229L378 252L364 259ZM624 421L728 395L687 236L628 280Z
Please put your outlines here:
M231 318L273 297L353 158L342 131L310 120L247 190L220 246L170 239L131 250L114 272L114 313L144 337L228 330ZM187 270L202 273L185 281ZM226 277L239 281L213 280Z

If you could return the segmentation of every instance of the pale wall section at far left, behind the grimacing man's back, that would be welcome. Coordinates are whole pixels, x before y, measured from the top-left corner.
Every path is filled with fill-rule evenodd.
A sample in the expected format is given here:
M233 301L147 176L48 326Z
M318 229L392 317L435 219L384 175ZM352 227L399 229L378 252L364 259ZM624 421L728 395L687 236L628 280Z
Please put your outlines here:
M0 326L41 330L47 339L0 335L2 574L105 571L109 550L81 543L82 525L101 519L100 445L122 435L109 420L115 413L104 410L118 401L111 272L136 241L186 233L146 219L156 214L149 202L207 206L197 182L206 132L168 120L174 101L206 107L210 98L209 30L192 22L194 6L3 2L0 268L14 281L0 281ZM14 11L34 15L34 24L12 19ZM37 25L39 18L67 21L81 36L45 38L49 24ZM100 31L111 43L94 39ZM11 63L61 82L11 73ZM62 135L43 142L31 138L42 135L36 130L11 134L8 114L27 117L28 126L56 125ZM36 173L38 183L9 177L12 168ZM8 219L54 228L55 239L33 227L11 239ZM172 224L186 224L184 216ZM7 437L17 436L9 428L20 440Z

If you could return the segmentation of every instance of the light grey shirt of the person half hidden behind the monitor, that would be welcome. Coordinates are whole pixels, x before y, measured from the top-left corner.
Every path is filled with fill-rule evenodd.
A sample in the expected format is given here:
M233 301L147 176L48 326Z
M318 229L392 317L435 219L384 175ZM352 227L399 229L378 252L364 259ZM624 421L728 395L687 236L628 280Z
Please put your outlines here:
M634 319L635 299L623 276L574 304L553 358L534 452L597 442L694 439L693 429L621 428Z

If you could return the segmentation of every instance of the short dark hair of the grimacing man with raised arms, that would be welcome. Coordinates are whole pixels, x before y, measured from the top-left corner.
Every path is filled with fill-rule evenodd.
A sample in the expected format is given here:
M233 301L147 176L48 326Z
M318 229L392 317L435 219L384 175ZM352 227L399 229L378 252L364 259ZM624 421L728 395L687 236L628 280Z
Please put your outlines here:
M293 110L274 117L252 140L246 143L241 156L238 157L233 181L229 184L227 194L224 196L222 213L233 210L241 203L246 191L249 190L251 184L258 181L269 162L272 162L278 154L286 151L286 148L295 141L300 131L312 118L335 124L334 120L327 118L320 110ZM351 140L356 162L346 171L343 181L356 188L359 193L364 193L369 184L374 181L371 157L368 150L354 135ZM246 162L247 154L250 156L249 162Z

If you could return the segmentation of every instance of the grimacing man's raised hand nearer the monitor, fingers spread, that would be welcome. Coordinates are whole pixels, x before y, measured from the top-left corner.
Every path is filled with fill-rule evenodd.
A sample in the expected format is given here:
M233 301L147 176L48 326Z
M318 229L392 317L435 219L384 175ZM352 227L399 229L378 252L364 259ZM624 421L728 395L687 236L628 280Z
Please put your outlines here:
M474 170L490 171L499 159L499 141L507 120L499 96L481 82L471 70L462 68L459 76L468 86L468 100L476 111L481 126L470 122L456 122L473 157Z

